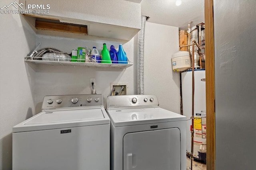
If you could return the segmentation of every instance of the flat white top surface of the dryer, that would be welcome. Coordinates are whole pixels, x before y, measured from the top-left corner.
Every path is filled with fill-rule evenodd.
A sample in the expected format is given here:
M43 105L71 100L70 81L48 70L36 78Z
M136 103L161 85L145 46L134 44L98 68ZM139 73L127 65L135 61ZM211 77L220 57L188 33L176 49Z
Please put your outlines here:
M108 115L115 127L186 120L184 115L159 107L108 110Z

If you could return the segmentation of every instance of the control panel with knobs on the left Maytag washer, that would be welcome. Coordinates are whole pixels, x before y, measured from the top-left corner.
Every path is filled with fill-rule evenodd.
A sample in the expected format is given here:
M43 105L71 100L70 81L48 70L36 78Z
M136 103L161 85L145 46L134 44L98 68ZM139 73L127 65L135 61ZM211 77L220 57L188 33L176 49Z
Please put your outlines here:
M92 107L103 107L102 94L79 94L79 95L59 95L44 96L42 111L66 109L72 110L86 109Z

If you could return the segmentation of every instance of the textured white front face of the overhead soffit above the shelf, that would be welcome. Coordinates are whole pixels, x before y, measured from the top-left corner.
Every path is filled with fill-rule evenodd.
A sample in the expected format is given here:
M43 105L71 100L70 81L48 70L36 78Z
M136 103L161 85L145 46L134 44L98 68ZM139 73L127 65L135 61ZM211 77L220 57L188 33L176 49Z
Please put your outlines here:
M125 0L26 0L26 4L50 4L49 16L140 29L139 3Z

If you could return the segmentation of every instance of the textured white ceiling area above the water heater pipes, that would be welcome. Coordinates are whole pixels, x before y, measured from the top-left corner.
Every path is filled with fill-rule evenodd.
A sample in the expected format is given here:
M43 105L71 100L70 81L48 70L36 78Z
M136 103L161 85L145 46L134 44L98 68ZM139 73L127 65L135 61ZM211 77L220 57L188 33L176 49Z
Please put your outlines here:
M148 16L148 22L159 23L188 29L204 22L204 0L181 0L176 6L176 0L128 0L141 4L141 15Z

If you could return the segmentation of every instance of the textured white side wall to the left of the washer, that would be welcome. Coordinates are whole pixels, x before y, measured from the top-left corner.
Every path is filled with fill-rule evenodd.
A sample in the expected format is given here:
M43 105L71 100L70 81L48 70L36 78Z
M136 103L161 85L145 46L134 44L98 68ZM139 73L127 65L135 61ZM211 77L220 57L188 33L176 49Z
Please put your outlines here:
M0 6L11 2L1 0ZM35 109L35 68L24 57L35 48L36 36L18 14L0 14L0 22L0 170L11 170L12 127Z

